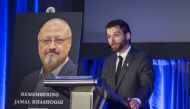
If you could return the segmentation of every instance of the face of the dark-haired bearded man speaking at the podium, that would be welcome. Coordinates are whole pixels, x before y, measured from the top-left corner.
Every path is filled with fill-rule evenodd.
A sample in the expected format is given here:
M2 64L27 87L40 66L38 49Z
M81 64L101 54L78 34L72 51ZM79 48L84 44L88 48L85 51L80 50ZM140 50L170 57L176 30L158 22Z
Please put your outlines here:
M113 52L119 52L129 43L128 34L124 34L119 26L114 26L106 29L108 43Z

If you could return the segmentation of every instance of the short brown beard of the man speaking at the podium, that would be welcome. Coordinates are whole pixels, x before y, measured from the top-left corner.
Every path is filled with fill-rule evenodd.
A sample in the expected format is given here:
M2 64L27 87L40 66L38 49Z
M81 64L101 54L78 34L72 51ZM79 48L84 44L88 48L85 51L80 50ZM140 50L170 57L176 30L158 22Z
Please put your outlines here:
M116 47L113 47L113 45L111 45L111 49L113 52L119 52L126 44L127 44L127 40L125 38L122 40L121 43L116 43L115 44Z

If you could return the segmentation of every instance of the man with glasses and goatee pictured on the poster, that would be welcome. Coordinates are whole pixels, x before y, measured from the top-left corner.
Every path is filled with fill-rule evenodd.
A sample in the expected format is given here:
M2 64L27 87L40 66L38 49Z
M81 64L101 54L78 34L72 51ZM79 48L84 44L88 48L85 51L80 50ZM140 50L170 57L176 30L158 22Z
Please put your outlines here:
M29 108L69 109L69 98L45 87L43 80L76 75L77 66L68 57L71 45L72 32L65 20L53 18L42 26L38 34L38 51L43 67L27 75L20 89L21 96L30 100ZM64 93L69 95L69 92Z

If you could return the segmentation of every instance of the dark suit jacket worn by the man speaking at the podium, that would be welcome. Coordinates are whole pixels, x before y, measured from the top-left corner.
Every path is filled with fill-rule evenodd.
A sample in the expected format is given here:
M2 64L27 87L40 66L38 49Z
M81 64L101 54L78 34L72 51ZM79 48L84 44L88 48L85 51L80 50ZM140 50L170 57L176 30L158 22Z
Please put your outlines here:
M142 107L149 108L148 99L154 85L154 68L151 58L146 53L131 47L117 83L115 83L116 60L116 53L105 60L101 75L104 84L123 98L139 98Z

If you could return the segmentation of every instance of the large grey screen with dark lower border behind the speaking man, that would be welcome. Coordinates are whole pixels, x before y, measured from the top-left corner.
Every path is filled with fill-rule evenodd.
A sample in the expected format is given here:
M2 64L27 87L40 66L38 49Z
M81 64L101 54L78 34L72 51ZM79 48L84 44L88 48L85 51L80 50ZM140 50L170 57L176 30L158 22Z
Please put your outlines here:
M124 19L133 45L153 58L190 58L190 1L93 0L85 1L83 57L98 57L107 44L105 25ZM86 52L91 51L91 52ZM104 50L108 55L109 50Z

